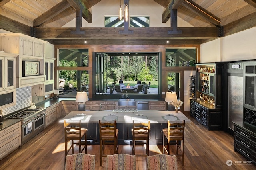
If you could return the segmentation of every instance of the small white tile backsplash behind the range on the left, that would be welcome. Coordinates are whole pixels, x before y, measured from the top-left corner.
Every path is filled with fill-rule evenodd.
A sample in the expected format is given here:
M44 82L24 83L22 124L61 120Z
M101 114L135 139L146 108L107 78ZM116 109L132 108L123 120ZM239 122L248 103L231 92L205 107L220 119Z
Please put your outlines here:
M24 109L29 107L32 98L31 98L31 86L23 87L23 88L16 88L16 105L12 107L8 107L2 110L2 113L8 115L14 111L18 111L20 109Z

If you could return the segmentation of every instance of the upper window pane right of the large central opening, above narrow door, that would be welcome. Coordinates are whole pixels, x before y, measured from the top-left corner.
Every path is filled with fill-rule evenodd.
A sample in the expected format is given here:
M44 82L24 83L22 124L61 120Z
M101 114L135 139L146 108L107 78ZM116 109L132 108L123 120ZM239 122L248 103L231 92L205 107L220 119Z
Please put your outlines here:
M195 66L196 49L166 49L166 66L182 67Z

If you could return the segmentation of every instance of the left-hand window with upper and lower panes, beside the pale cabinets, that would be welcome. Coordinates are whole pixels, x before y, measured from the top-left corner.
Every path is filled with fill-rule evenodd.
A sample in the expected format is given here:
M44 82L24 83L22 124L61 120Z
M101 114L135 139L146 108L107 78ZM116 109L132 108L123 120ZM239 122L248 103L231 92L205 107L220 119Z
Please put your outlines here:
M89 90L88 49L59 49L59 96ZM82 67L79 68L78 67Z

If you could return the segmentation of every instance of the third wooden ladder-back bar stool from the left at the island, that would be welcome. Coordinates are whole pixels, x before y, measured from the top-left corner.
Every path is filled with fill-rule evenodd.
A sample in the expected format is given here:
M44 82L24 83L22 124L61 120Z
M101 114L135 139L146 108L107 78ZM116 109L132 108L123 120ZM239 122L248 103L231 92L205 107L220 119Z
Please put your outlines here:
M135 123L133 120L132 128L132 154L135 156L149 156L149 132L150 121L148 123L139 122ZM135 143L140 142L146 144L146 154L135 154Z

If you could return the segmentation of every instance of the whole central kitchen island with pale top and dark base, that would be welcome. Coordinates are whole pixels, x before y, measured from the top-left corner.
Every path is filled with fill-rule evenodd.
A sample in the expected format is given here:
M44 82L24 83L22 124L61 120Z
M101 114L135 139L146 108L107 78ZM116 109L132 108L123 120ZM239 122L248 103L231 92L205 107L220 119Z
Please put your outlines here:
M111 115L110 115L111 114ZM132 141L132 121L148 121L150 120L150 145L157 145L162 143L162 129L167 127L167 120L171 122L181 122L185 120L190 123L185 115L180 111L134 111L134 112L114 112L114 111L71 111L59 122L63 123L64 120L68 122L79 121L82 122L82 127L88 129L87 139L90 144L99 144L99 129L98 122L101 121L114 121L119 129L118 143L130 145ZM63 133L64 135L64 133Z

